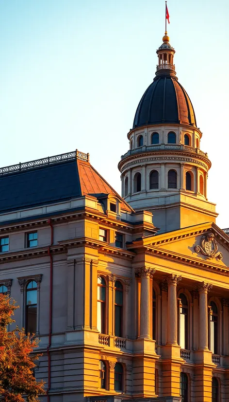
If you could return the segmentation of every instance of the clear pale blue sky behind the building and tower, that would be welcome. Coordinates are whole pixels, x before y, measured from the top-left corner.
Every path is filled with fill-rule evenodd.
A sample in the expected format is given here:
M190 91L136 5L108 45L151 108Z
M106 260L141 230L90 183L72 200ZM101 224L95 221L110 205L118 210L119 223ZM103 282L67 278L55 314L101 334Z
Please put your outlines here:
M229 2L167 4L177 75L213 163L208 198L229 227ZM163 0L0 0L0 165L78 148L120 192L117 163L163 35Z

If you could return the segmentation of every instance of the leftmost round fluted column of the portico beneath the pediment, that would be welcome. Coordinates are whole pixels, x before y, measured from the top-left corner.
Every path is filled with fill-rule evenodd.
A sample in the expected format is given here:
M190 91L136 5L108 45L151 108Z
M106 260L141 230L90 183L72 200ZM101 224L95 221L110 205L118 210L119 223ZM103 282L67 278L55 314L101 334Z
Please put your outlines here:
M152 268L141 268L135 270L136 276L141 277L141 298L140 298L140 338L150 339L149 311L150 292L149 279L153 278L155 270Z

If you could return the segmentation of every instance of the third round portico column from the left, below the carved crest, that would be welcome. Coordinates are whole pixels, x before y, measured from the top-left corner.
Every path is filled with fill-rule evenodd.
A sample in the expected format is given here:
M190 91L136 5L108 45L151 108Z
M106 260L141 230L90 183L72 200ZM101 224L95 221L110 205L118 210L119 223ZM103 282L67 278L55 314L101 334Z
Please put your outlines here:
M196 288L199 292L199 349L208 349L208 291L213 285L201 282Z

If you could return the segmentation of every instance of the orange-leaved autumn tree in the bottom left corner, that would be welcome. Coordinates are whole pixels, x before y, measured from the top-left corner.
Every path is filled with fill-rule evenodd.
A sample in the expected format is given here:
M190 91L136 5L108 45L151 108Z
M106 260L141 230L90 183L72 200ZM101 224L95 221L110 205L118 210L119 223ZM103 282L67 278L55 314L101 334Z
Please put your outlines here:
M36 382L33 367L39 355L33 349L38 340L24 329L11 330L11 318L18 308L16 302L0 293L0 400L4 402L35 402L44 393L44 383ZM23 398L24 395L24 398Z

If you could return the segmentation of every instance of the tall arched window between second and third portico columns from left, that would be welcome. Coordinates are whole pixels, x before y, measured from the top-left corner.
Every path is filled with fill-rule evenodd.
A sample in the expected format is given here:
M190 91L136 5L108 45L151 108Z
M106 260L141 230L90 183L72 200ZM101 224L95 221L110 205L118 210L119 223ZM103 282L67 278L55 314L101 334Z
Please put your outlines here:
M180 293L179 329L180 347L188 349L188 302L184 293Z

